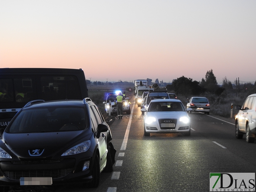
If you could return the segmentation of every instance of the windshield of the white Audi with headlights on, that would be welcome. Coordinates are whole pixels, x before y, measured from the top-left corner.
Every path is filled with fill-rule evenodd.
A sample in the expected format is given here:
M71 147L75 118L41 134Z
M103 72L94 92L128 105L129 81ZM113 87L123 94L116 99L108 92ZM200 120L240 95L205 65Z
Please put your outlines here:
M181 102L151 102L148 112L151 111L185 111Z

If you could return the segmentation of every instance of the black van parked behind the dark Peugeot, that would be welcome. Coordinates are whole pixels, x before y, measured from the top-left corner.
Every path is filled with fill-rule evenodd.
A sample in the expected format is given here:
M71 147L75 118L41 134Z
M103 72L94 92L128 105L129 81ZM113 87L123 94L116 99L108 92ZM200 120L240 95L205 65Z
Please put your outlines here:
M0 128L33 100L82 100L88 97L82 69L0 68Z

